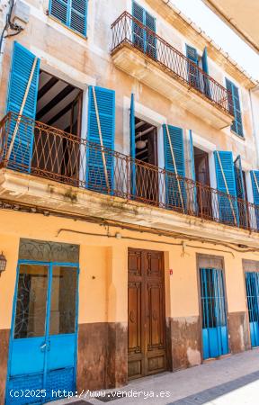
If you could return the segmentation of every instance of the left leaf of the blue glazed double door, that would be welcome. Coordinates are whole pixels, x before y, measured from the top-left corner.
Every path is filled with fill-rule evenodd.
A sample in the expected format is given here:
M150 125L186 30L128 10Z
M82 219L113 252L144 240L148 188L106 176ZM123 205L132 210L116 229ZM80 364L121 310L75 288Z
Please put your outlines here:
M21 265L16 297L11 376L43 373L49 266ZM28 362L30 353L33 362Z

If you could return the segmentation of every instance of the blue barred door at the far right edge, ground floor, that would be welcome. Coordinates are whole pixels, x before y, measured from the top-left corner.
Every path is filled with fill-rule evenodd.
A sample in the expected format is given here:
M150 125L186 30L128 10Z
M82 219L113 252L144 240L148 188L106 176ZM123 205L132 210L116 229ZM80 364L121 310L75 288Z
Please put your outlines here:
M259 274L246 273L246 297L250 325L251 346L259 346Z

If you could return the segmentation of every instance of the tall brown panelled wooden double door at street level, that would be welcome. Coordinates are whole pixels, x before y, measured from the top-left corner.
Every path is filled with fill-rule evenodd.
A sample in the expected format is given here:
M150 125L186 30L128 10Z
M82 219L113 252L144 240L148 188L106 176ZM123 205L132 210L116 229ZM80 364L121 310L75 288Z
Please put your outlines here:
M166 370L162 252L129 249L129 379Z

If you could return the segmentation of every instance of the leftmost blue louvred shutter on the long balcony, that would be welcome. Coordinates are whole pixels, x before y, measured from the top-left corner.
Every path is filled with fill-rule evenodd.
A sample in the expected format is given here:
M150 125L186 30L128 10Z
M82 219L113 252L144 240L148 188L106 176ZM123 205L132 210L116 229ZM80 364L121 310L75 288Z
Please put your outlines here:
M20 112L35 58L35 55L33 55L28 49L22 47L21 44L18 42L13 43L13 58L9 77L6 112ZM22 115L31 118L33 121L35 120L36 114L39 75L40 59L37 61L31 80L31 87L22 112ZM8 144L11 142L14 128L15 122L12 120L9 130ZM25 125L25 122L22 121L19 124L19 129L14 140L9 167L21 169L22 171L30 171L32 147L33 124Z

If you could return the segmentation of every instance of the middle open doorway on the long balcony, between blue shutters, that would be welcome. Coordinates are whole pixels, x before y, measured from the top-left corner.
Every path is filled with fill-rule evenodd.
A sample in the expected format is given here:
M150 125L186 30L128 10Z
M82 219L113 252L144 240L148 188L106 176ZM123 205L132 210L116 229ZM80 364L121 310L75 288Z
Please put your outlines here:
M135 117L136 195L139 201L158 202L157 129Z

